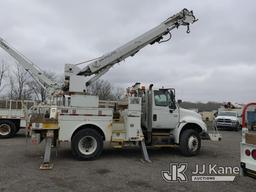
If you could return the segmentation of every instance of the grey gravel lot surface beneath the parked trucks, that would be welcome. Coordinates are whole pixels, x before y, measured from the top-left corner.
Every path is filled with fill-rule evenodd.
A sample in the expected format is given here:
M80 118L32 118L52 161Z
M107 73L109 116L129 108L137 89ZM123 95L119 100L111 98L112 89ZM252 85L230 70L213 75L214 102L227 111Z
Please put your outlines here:
M167 183L161 171L170 163L187 162L187 172L195 164L239 166L241 132L222 131L218 143L204 141L196 157L183 157L175 148L149 149L153 163L141 160L139 149L105 149L95 161L74 160L69 144L53 153L54 168L39 170L43 144L26 144L24 134L0 140L0 191L255 191L255 179L237 176L234 182ZM186 172L186 173L187 173Z

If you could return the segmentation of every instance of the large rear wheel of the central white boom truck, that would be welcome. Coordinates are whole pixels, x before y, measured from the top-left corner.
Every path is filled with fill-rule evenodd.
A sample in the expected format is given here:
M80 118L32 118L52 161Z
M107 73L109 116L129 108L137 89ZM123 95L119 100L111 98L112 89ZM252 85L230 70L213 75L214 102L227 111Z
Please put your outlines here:
M71 149L78 160L94 160L103 150L102 135L94 129L80 130L72 138Z

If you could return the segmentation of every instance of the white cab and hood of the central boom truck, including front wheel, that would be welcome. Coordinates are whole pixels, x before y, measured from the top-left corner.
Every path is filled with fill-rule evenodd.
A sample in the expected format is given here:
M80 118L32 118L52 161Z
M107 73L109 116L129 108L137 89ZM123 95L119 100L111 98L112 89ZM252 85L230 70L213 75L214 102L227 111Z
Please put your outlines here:
M179 145L182 154L200 151L201 139L209 139L200 114L179 107L175 89L152 89L142 94L142 129L148 145Z

